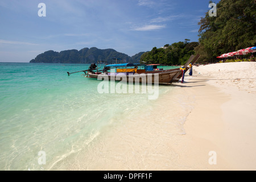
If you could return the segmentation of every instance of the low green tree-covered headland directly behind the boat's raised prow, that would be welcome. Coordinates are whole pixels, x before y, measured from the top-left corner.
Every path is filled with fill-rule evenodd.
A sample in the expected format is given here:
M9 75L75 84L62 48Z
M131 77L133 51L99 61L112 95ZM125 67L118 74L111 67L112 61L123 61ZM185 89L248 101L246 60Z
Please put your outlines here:
M189 39L185 39L184 42L173 43L171 46L166 44L164 48L154 47L150 52L143 53L141 63L183 65L195 53L194 48L197 46L199 43L189 43Z

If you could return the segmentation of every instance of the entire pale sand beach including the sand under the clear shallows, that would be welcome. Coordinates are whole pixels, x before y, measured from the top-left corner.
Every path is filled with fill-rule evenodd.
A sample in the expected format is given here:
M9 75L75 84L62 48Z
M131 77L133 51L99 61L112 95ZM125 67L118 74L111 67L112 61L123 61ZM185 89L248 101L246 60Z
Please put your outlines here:
M157 107L124 118L68 169L255 170L255 68L256 62L193 67Z

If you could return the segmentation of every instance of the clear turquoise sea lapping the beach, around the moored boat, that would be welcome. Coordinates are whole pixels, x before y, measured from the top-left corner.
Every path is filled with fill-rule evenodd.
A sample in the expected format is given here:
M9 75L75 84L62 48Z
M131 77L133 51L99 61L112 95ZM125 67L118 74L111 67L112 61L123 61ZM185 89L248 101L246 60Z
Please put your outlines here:
M88 67L0 63L1 170L55 168L122 118L157 102L142 93L100 94L101 81L67 74ZM159 97L170 89L159 86Z

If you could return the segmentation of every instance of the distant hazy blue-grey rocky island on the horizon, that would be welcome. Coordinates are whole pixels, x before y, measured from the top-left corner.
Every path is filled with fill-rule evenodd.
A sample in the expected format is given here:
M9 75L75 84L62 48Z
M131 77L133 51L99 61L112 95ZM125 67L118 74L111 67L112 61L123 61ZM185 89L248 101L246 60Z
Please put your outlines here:
M40 53L30 63L73 63L73 64L91 64L96 63L98 60L108 61L116 57L123 59L127 63L139 63L141 55L144 52L139 52L134 56L128 56L125 53L117 52L114 49L98 49L96 47L83 48L80 51L77 49L65 51L46 51Z

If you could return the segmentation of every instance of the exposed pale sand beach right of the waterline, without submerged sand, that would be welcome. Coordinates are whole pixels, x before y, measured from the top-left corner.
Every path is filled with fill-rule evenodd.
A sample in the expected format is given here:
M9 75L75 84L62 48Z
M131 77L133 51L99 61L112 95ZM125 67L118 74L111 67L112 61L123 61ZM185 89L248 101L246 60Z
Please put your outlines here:
M196 73L185 83L192 86L186 92L194 94L196 104L184 125L184 146L189 146L184 160L204 162L203 156L212 150L217 164L205 169L255 170L256 62L193 68Z

